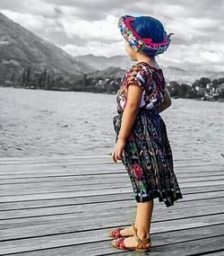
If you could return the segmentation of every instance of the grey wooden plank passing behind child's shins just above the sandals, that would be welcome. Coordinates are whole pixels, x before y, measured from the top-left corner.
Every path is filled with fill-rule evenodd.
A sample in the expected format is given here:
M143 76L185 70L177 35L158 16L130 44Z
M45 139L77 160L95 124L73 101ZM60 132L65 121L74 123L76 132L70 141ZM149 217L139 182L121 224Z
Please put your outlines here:
M183 208L182 208L183 211ZM163 213L164 214L164 213ZM130 225L132 223L130 216L117 216L112 219L112 216L91 216L88 219L84 216L80 218L76 216L74 219L60 220L57 223L44 223L44 225L30 225L20 226L11 229L4 229L0 234L1 243L7 240L41 237L52 234L68 234L68 233L80 233L88 230L95 230L99 228L107 228L108 226L119 225L120 223L126 223ZM80 220L80 221L79 221ZM85 223L83 225L82 223ZM106 224L106 225L104 225ZM218 225L224 224L224 214L210 214L209 216L186 216L181 219L163 219L162 221L152 221L151 231L171 232L176 230L182 230L186 228L196 228L206 225Z

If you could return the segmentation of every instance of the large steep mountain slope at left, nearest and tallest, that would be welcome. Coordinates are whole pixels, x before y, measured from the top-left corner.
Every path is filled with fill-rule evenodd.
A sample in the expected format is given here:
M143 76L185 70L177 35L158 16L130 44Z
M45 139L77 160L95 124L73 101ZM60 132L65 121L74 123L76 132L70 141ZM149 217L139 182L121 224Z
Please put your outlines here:
M28 66L47 68L65 76L90 74L96 70L0 13L0 76L12 70L22 72Z

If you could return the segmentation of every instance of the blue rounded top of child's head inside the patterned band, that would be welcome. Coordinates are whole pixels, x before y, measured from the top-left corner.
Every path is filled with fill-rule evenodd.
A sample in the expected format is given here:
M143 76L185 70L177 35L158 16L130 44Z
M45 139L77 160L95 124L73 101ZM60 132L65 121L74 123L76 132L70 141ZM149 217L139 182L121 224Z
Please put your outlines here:
M164 27L159 20L151 16L139 16L132 22L132 27L142 38L151 38L153 42L161 42L164 36Z

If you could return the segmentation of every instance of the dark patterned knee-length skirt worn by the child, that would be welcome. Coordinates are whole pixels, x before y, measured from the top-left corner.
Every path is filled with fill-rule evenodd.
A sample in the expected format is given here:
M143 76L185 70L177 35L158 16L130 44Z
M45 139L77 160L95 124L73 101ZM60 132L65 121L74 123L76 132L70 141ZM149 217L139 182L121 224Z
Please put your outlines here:
M116 141L123 112L113 119ZM183 199L174 172L166 125L155 109L139 109L126 138L122 163L132 182L137 202L159 198L166 207Z

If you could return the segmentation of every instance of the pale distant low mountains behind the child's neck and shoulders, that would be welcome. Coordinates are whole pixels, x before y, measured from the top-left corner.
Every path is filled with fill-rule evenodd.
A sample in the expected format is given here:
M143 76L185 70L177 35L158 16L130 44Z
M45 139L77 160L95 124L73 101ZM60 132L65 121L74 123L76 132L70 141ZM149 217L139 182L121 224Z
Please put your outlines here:
M115 57L85 55L74 58L85 64L90 63L91 66L99 68L99 70L103 70L109 66L120 67L121 69L127 70L136 63L130 60L129 57L120 55ZM196 79L200 79L201 77L209 77L211 79L224 77L224 72L195 71L194 69L185 70L177 66L160 67L163 70L163 75L167 82L177 81L178 83L192 84Z

